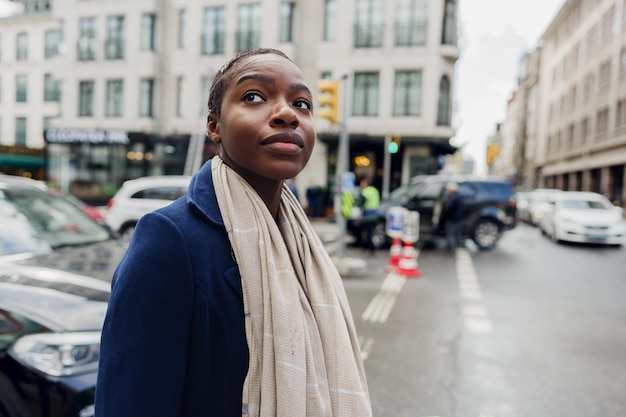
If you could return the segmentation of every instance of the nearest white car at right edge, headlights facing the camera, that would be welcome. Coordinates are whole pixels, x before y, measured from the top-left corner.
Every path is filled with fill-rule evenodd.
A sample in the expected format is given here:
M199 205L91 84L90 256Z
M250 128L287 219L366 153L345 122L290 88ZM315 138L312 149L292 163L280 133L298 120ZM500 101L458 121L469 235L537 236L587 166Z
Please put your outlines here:
M598 193L562 191L552 194L539 227L555 242L568 241L622 246L624 213Z

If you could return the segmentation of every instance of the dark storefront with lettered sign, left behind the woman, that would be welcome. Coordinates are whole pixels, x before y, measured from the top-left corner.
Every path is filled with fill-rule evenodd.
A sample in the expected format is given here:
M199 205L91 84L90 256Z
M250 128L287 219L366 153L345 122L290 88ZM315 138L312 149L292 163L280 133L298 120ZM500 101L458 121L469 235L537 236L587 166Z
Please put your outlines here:
M101 129L47 129L44 179L85 201L103 203L132 178L181 175L189 135ZM203 159L215 153L205 141Z

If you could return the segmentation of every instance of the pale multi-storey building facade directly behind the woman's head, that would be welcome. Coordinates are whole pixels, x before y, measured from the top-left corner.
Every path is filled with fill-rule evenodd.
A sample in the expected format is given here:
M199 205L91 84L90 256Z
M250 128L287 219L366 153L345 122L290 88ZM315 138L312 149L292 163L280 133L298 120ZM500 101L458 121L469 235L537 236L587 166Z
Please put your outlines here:
M257 46L284 51L313 90L342 80L347 117L317 119L301 194L334 186L344 126L348 170L379 189L392 135L392 187L456 150L456 0L16 2L23 11L0 19L0 152L10 155L0 170L84 191L197 168L190 159L216 151L204 134L213 76ZM40 166L22 150L41 152Z

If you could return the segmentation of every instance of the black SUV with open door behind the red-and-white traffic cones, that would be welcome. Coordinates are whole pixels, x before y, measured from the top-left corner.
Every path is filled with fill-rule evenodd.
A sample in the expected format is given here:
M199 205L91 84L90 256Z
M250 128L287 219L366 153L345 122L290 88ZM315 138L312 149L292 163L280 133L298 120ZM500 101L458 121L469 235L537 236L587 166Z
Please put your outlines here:
M441 206L445 186L454 181L459 185L458 193L465 203L465 235L480 249L492 249L505 230L517 225L517 203L511 185L500 180L479 180L465 177L427 175L415 177L410 184L390 193L389 199L381 203L377 226L372 240L376 247L389 244L385 220L389 207L402 206L419 212L420 242L433 242L443 237L441 228ZM348 231L362 239L362 220L348 221Z

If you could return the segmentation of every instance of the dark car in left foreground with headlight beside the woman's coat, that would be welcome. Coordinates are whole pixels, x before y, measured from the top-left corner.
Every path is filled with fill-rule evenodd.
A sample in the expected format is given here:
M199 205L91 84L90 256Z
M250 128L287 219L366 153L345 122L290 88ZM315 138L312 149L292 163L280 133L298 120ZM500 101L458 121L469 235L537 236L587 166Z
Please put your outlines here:
M93 416L126 246L41 183L0 175L0 417Z

